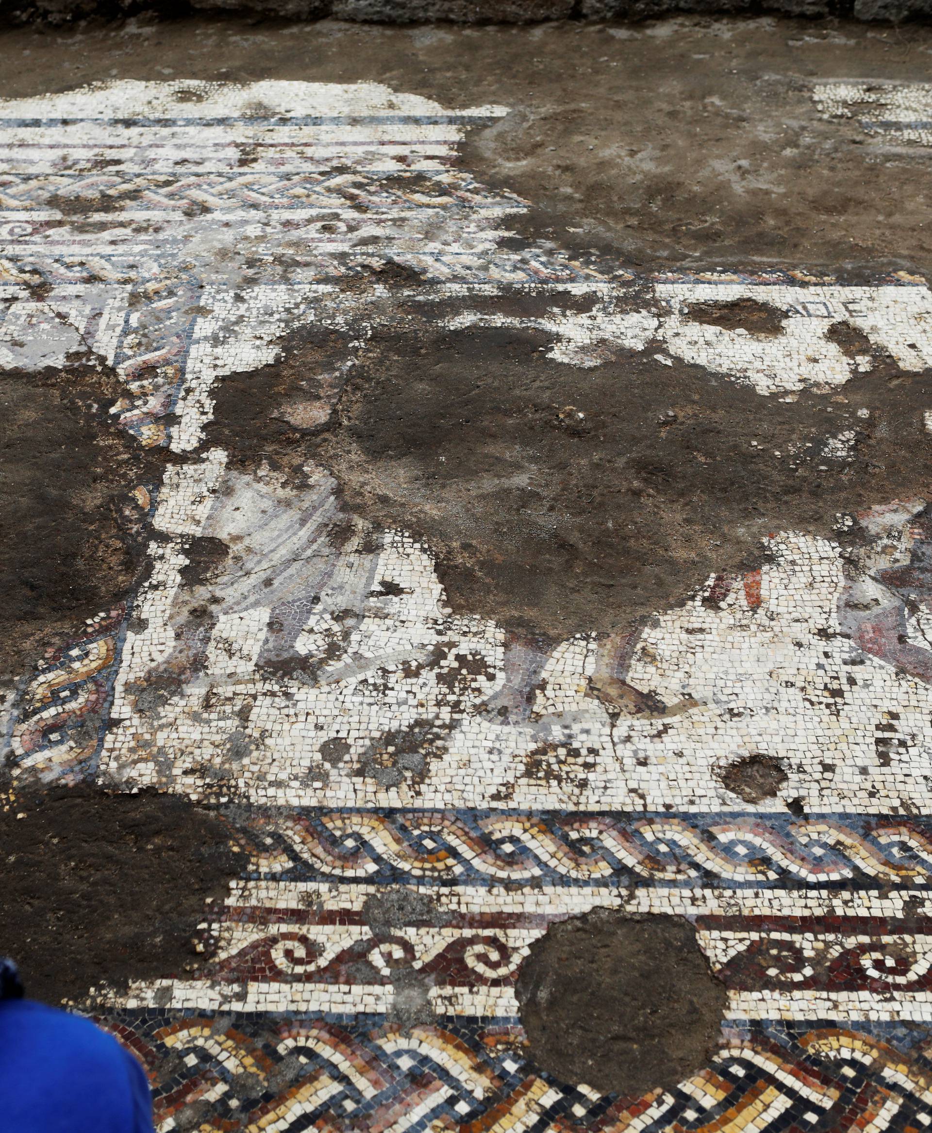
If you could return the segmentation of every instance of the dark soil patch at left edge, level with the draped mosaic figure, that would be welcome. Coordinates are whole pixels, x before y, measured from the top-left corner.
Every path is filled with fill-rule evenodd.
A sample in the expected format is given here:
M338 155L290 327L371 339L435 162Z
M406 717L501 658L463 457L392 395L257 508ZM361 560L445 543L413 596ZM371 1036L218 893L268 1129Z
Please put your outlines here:
M112 606L138 573L142 504L164 450L109 410L126 387L85 365L0 372L0 680Z

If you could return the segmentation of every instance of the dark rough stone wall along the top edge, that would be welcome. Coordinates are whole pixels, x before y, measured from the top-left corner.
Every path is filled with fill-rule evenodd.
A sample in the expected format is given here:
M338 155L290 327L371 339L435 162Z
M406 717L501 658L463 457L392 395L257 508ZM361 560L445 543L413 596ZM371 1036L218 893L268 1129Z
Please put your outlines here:
M900 22L932 16L932 0L0 0L0 23L63 24L155 11L255 12L285 19L336 19L414 24L530 24L554 19L650 19L674 12L836 16Z

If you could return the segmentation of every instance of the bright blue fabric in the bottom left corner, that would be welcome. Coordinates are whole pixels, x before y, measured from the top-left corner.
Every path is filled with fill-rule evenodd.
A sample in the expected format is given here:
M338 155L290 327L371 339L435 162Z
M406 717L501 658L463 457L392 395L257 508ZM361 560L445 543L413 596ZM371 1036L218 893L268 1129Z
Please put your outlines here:
M146 1075L89 1020L2 1000L0 1133L152 1133Z

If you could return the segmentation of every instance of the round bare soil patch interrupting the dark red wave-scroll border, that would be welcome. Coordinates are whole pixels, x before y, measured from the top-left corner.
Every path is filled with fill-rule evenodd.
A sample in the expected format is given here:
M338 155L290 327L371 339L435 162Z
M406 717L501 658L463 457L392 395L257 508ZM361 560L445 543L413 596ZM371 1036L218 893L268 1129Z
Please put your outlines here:
M516 993L533 1063L623 1097L702 1070L727 1003L687 921L605 909L533 944Z

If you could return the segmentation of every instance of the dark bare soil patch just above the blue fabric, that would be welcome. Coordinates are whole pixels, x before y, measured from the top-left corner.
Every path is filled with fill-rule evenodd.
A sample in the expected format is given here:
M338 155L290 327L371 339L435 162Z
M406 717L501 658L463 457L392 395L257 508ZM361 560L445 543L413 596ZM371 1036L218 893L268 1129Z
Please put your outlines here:
M230 838L177 795L82 786L17 799L0 810L0 955L52 1004L103 981L183 978L205 903L242 869Z

